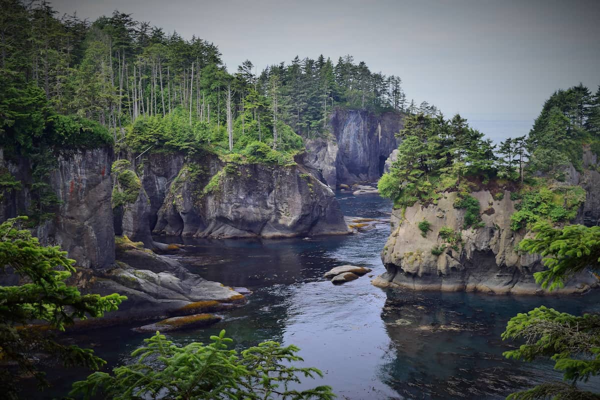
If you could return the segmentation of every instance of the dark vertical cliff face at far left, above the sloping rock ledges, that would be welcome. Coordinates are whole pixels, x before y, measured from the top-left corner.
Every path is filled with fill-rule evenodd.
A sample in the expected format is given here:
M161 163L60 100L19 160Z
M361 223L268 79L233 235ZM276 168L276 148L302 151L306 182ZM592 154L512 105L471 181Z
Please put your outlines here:
M77 265L102 269L115 262L115 234L110 206L112 150L108 148L62 152L58 166L50 172L49 184L58 196L55 218L34 232L41 243L60 245ZM6 161L0 167L22 182L18 191L5 193L0 218L23 213L31 204L29 161Z

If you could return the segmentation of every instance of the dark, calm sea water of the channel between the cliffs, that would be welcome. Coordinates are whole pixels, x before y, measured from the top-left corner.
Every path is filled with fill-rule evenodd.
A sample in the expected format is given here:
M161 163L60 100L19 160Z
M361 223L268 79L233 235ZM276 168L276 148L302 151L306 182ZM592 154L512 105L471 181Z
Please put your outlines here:
M377 196L338 194L344 215L382 218L391 204ZM500 340L506 321L542 304L561 311L598 311L600 294L584 297L511 297L473 293L415 293L382 290L372 278L334 286L323 273L342 264L385 272L380 252L389 225L352 236L284 240L205 240L161 237L184 243L178 257L192 272L253 291L248 304L225 312L206 329L171 333L187 344L208 342L226 329L238 348L274 339L295 344L305 366L325 372L323 380L342 399L502 399L547 378L560 378L550 363L530 365L504 359L511 344ZM74 336L92 345L109 365L128 354L147 335L130 327L98 329ZM58 387L82 378L62 371ZM48 393L50 395L50 393Z

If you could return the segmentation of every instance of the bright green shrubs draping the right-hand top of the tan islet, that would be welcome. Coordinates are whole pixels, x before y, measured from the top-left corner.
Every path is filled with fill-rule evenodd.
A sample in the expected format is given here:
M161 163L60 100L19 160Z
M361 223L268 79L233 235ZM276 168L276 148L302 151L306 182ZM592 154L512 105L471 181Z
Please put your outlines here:
M511 215L512 230L531 227L539 221L565 222L575 218L586 200L586 191L578 186L548 188L538 181L524 188L518 197L521 202L515 204L517 211Z

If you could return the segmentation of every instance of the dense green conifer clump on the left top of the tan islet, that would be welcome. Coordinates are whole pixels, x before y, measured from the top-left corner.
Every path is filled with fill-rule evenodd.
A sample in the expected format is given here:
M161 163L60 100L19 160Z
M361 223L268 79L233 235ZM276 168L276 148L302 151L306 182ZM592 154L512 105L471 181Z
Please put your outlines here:
M408 116L398 160L379 181L379 192L396 206L436 201L445 191L466 190L464 178L486 181L496 176L494 146L460 115Z

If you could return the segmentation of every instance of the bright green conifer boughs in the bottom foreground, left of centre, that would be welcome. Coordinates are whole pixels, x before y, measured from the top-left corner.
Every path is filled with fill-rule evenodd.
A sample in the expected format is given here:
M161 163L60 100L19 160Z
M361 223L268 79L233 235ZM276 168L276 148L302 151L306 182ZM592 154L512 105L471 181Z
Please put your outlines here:
M211 343L193 342L178 347L159 332L131 356L129 365L113 374L95 372L73 384L70 395L84 399L100 394L116 400L133 399L332 399L329 386L295 390L301 377L322 377L316 368L298 368L298 348L263 342L241 353L228 350L232 339L221 330Z

